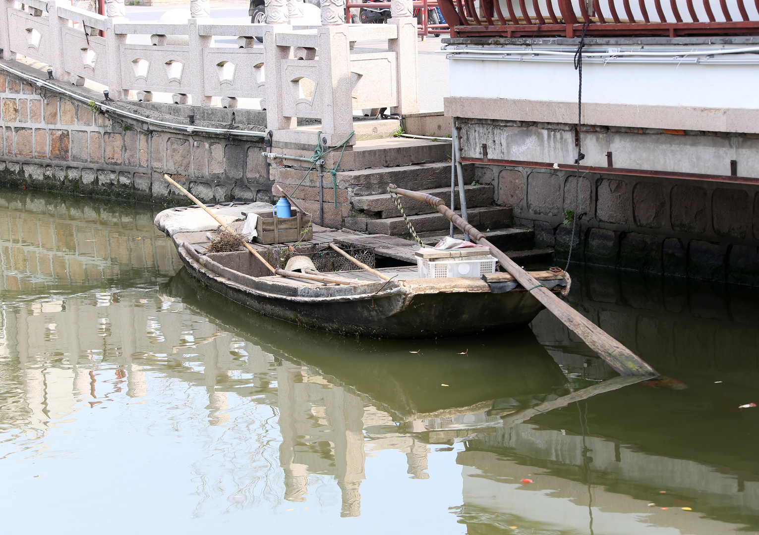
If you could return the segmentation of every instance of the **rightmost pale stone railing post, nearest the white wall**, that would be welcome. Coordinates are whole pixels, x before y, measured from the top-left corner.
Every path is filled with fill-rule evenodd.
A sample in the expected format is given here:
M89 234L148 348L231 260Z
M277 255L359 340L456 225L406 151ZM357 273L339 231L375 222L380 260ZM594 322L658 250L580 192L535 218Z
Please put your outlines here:
M412 0L390 0L388 24L398 26L398 38L389 39L388 49L397 55L398 107L405 115L419 111L419 65L417 61L417 19Z

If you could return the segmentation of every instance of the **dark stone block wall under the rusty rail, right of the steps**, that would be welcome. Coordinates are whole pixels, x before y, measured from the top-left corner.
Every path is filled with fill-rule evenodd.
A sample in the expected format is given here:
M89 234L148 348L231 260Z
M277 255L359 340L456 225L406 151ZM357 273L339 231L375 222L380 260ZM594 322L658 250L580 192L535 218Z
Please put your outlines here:
M759 285L759 185L477 165L559 259ZM572 232L571 212L578 229Z

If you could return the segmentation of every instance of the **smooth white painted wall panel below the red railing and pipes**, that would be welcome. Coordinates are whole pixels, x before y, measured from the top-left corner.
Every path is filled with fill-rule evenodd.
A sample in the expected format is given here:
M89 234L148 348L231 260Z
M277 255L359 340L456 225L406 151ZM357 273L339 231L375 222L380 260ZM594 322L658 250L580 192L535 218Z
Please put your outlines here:
M759 61L759 55L750 56ZM583 102L759 109L756 63L585 60L582 74ZM450 61L450 94L573 102L578 98L578 71L571 59L483 60L459 55Z

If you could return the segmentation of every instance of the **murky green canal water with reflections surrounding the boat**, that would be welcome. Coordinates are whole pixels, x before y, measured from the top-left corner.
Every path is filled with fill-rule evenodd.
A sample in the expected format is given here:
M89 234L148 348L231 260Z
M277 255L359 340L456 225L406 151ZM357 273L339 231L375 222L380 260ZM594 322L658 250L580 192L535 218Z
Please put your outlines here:
M155 213L0 192L2 533L759 533L751 288L573 267L672 378L619 388L545 311L411 341L258 316Z

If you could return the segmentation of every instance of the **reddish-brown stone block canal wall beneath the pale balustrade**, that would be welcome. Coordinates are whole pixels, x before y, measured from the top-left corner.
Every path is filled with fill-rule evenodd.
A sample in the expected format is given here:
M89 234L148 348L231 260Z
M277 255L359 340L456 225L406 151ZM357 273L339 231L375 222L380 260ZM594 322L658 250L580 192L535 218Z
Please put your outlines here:
M0 181L16 186L162 204L269 202L263 143L156 131L95 113L86 104L0 76Z

